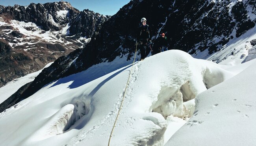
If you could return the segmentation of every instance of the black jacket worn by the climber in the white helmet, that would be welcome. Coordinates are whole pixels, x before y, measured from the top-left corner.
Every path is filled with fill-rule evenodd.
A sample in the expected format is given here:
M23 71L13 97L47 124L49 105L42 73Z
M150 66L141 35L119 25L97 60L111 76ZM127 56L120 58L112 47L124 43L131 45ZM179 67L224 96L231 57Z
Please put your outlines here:
M145 26L139 26L138 33L137 33L137 40L151 40L152 38L152 30L150 26L147 24Z

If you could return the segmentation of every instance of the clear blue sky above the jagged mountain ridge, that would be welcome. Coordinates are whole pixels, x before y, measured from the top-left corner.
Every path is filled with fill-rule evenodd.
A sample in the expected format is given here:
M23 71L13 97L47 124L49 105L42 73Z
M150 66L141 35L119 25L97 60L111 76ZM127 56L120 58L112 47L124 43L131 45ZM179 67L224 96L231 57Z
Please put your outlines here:
M59 2L60 0L0 0L0 5L14 6L18 4L20 6L27 6L30 3L41 3L46 2ZM98 12L103 15L114 15L119 9L128 4L130 0L63 0L68 1L73 7L80 11L89 9L94 12Z

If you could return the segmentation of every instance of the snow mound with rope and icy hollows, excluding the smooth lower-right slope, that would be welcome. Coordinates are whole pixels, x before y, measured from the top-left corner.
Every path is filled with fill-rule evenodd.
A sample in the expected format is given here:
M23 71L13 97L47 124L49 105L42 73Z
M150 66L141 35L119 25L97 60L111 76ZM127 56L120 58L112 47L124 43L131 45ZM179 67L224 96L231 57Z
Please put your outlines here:
M110 145L163 145L193 115L198 94L255 67L250 66L254 62L236 70L169 50L136 62L133 70L127 65L89 83L88 71L73 74L0 113L0 143L107 145L131 72ZM196 101L197 110L204 106ZM221 101L214 104L218 107Z

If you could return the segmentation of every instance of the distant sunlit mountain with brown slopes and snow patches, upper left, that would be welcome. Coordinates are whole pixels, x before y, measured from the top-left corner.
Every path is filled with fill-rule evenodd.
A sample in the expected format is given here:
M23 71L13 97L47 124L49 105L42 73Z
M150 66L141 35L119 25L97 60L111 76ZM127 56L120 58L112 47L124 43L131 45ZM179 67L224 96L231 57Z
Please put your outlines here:
M89 43L110 16L69 2L0 7L0 87Z

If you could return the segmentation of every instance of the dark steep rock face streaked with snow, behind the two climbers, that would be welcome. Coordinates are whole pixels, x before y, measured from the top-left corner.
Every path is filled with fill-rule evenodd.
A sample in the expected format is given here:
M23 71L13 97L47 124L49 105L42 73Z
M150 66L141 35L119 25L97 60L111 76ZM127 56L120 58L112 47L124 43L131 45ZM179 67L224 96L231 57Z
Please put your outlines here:
M57 59L35 78L27 90L13 94L11 98L27 98L51 81L97 63L111 62L118 56L130 60L135 52L136 30L142 17L147 18L147 24L152 28L152 41L165 33L169 49L190 54L208 50L211 54L255 26L256 20L248 17L248 13L256 13L256 0L132 0L104 22L83 49ZM84 29L80 24L82 22L73 22L74 28ZM76 31L72 29L72 32ZM154 46L158 44L153 44L153 49L156 49Z

